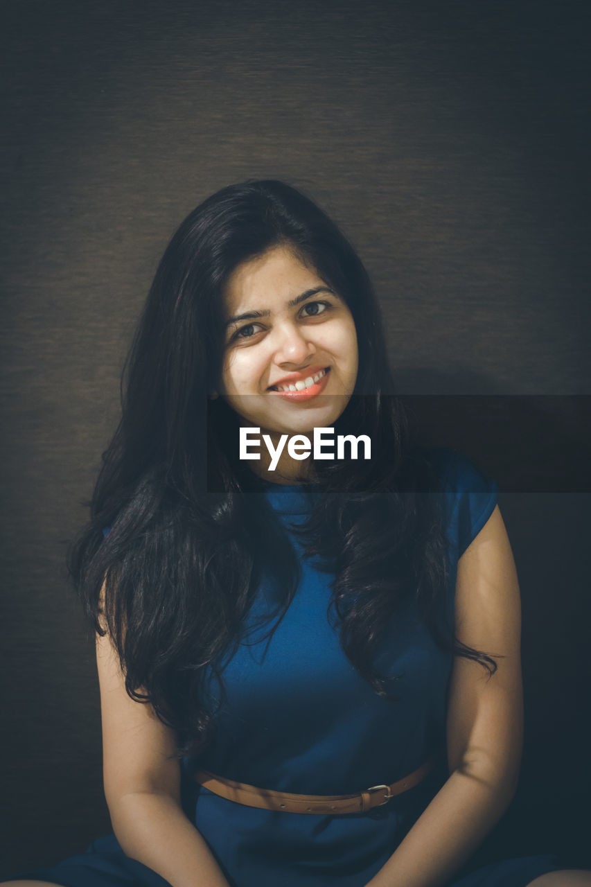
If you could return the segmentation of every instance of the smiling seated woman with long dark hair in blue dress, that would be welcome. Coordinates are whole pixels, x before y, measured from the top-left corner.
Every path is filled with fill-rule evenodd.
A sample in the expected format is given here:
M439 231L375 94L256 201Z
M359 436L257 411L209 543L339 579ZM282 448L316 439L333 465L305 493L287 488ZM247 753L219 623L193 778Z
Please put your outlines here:
M249 182L185 219L71 560L114 835L16 883L591 883L460 874L516 785L516 570L495 484L414 445L392 390L310 200ZM357 458L310 453L322 428Z

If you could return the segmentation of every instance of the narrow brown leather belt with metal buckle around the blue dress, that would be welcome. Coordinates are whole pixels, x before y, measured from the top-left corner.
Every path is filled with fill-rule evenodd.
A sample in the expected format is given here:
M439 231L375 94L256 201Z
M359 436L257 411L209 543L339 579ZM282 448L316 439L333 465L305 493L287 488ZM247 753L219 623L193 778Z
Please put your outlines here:
M414 773L405 776L391 785L373 785L370 789L359 791L356 795L290 795L272 789L257 789L245 782L235 782L200 770L194 774L204 789L214 795L225 797L229 801L245 804L248 807L259 807L261 810L276 810L288 813L365 813L372 807L378 807L390 801L390 797L400 795L403 791L414 789L429 773L441 757L430 757Z

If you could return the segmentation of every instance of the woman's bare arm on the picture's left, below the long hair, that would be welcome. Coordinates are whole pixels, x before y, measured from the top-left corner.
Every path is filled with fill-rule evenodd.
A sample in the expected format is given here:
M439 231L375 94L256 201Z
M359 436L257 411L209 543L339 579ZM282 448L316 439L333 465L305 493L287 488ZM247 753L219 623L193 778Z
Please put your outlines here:
M97 635L106 804L123 852L172 887L228 887L181 807L173 731L149 703L136 703L109 635Z

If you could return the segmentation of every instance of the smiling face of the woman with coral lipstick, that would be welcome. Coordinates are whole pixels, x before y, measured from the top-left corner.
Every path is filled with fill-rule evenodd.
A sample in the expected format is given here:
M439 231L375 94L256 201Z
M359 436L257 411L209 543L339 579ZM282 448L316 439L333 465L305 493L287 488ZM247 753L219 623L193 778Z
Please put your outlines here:
M288 435L332 428L358 370L355 324L343 299L288 247L272 247L233 271L224 302L219 394L240 425Z

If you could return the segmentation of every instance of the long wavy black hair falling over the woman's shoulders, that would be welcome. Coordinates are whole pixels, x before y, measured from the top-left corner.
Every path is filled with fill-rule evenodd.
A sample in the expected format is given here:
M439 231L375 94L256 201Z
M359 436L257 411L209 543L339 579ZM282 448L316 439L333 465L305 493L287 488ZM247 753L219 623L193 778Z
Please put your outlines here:
M127 692L177 731L179 756L212 735L204 681L213 671L223 687L218 663L240 639L262 570L284 589L271 632L297 587L297 559L260 495L264 483L237 459L236 416L208 396L222 369L225 281L278 245L341 295L358 336L359 375L335 433L369 435L372 459L314 462L315 489L326 494L298 530L307 553L335 572L329 609L345 654L376 693L392 695L374 654L414 594L437 643L495 667L445 622L445 517L441 498L424 496L437 490L437 471L394 393L363 263L288 184L231 185L186 217L162 257L124 368L122 419L103 454L91 521L69 557L91 624L117 648Z

